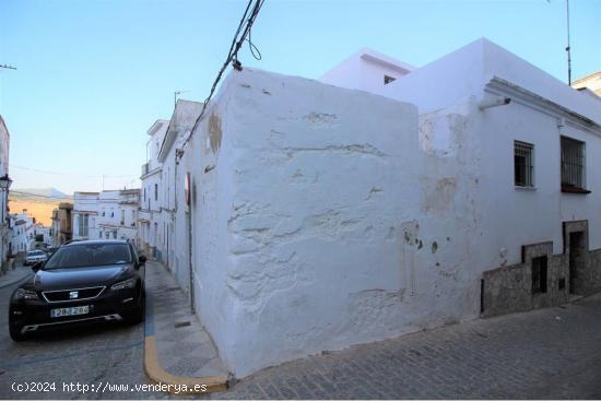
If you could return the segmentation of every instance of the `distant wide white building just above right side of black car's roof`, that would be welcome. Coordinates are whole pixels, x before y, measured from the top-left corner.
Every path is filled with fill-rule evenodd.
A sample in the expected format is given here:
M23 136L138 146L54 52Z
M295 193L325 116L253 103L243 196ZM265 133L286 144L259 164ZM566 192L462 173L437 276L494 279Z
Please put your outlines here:
M139 189L106 190L98 193L97 238L138 241Z

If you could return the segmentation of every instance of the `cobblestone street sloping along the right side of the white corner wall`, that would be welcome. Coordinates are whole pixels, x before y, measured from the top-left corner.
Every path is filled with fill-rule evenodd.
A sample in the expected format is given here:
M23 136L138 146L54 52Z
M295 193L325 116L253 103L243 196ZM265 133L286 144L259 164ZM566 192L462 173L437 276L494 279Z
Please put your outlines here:
M215 397L599 399L601 295L284 364Z

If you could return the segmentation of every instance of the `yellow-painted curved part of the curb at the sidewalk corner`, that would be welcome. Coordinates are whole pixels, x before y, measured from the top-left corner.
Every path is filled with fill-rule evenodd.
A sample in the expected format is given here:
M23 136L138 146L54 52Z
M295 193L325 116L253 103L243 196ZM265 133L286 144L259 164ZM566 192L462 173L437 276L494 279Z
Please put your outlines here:
M179 393L186 394L207 394L209 392L225 391L227 390L227 377L226 376L208 376L208 377L188 377L188 376L174 376L166 371L158 364L158 355L156 353L156 343L154 335L148 335L144 338L144 369L146 375L154 382L160 382L168 386L170 393L176 393L176 388L182 389L186 386L186 390L181 390ZM202 389L205 389L204 391Z

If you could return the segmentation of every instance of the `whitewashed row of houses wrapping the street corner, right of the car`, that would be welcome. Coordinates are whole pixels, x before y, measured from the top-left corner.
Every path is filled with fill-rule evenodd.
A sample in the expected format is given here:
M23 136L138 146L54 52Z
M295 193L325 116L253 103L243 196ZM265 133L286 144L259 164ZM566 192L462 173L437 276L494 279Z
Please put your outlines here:
M139 239L238 377L601 290L601 102L486 39L201 109L148 131Z

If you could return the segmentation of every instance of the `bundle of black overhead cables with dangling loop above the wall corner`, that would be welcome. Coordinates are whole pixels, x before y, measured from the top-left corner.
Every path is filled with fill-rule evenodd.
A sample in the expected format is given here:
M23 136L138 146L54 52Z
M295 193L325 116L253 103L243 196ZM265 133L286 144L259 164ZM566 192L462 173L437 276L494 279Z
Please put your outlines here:
M232 63L232 67L236 70L241 70L241 63L238 60L238 51L240 50L240 47L244 45L245 42L248 42L248 46L250 48L250 54L252 57L255 57L257 60L261 59L261 52L255 46L251 39L250 31L252 28L252 24L255 23L255 20L259 15L259 11L261 10L261 7L263 5L264 0L248 0L248 4L246 5L246 10L244 11L243 17L240 19L240 22L238 23L238 27L236 28L236 34L234 35L234 38L232 39L232 45L229 46L229 52L227 54L227 57L225 59L225 62L221 67L220 71L217 72L217 76L215 78L215 81L213 82L213 86L211 86L211 91L209 92L209 96L204 99L204 103L202 105L202 110L200 111L200 115L195 121L195 125L192 127L192 130L190 131L190 134L186 140L184 141L184 144L181 145L181 150L186 148L190 139L192 138L192 134L196 131L196 128L200 120L202 120L202 117L204 116L204 111L207 110L207 106L209 105L209 102L211 102L211 98L213 97L213 94L215 93L215 90L217 87L219 82L221 81L221 78L223 75L223 72ZM179 153L179 156L181 156L181 153Z

